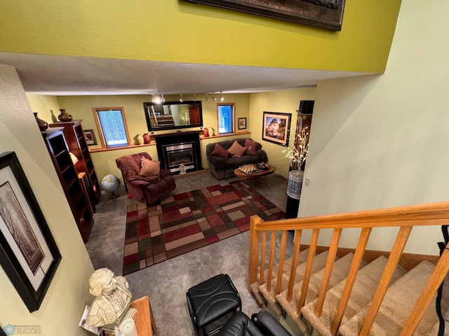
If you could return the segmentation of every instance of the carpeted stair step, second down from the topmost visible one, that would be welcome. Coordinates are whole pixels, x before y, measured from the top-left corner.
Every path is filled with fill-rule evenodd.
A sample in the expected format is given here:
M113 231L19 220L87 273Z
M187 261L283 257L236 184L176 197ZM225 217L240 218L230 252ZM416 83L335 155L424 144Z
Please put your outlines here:
M381 256L358 270L356 281L352 288L351 296L349 297L349 302L344 311L342 324L349 321L352 316L356 315L358 311L363 309L363 307L373 299L377 284L380 281L386 264L387 258ZM394 283L394 281L404 274L406 274L405 269L400 266L396 267L391 283ZM301 309L301 312L304 314L304 317L307 318L307 321L323 336L330 336L330 328L335 313L337 312L338 304L340 303L345 282L346 280L340 281L340 283L328 290L320 317L315 316L316 300L309 302Z

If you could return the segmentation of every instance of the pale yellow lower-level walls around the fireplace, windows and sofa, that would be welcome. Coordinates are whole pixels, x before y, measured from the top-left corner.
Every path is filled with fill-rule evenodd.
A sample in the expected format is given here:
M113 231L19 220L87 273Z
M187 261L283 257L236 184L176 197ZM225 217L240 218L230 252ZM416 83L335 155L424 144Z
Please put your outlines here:
M250 132L250 134L239 135L232 137L220 137L201 140L201 156L203 167L208 168L206 158L206 145L222 140L231 140L239 137L250 137L262 144L269 158L269 162L276 166L276 174L284 177L288 176L289 161L282 153L282 146L272 144L268 141L262 141L262 119L263 112L281 112L292 114L292 137L290 137L290 145L294 144L294 134L297 122L297 113L300 100L313 100L316 89L295 89L295 90L281 90L274 92L260 92L254 94L225 94L225 103L233 102L236 104L236 120L238 118L246 118L247 129L240 130L240 132ZM67 109L67 112L72 114L75 119L83 120L83 129L93 129L97 137L97 146L90 146L90 148L101 148L100 139L98 135L97 126L93 117L93 107L114 107L122 106L128 123L128 130L130 138L133 139L138 133L147 132L147 124L143 112L143 102L149 102L150 97L147 95L127 95L127 96L72 96L72 97L51 97L41 96L39 94L27 94L29 102L33 111L39 112L39 117L50 122L51 112L49 107L58 111L59 106ZM185 95L186 100L193 99L189 95ZM199 98L199 97L197 97ZM168 101L179 99L179 96L166 96ZM203 106L203 121L205 127L213 127L217 131L217 102L206 102L201 97ZM55 102L56 101L56 102ZM56 107L54 107L56 106ZM54 113L58 116L59 111ZM236 132L239 132L236 127ZM133 146L132 148L119 149L113 151L101 151L92 153L93 162L97 171L98 177L107 174L114 174L121 176L119 169L116 167L115 160L121 155L128 155L133 153L140 153L145 151L149 153L154 159L158 159L156 146Z

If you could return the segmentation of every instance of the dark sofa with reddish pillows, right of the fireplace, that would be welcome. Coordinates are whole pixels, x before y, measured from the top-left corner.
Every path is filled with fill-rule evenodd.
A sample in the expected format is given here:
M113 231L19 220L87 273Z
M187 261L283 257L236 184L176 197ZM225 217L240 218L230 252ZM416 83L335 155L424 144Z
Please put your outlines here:
M225 140L206 146L209 171L217 179L234 177L234 169L242 165L268 162L262 145L249 138Z

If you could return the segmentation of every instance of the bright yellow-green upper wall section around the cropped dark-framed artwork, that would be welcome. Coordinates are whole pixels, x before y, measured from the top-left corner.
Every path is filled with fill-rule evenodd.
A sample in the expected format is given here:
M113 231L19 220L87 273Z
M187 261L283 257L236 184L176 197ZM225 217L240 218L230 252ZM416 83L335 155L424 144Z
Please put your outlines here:
M335 32L180 0L5 0L0 51L382 72L400 5L347 0Z

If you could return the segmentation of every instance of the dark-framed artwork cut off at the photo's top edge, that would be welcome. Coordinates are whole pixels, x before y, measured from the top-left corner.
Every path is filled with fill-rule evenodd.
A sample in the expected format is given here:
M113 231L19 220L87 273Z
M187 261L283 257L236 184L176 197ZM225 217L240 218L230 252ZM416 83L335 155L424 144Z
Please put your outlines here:
M268 18L302 23L333 31L342 30L345 0L184 0L239 10Z

